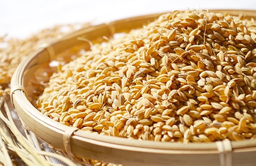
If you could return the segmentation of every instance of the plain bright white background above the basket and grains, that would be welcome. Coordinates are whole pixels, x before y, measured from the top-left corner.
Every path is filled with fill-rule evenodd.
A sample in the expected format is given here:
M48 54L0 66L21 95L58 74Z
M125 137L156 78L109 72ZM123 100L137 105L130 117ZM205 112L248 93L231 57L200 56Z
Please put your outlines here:
M184 9L253 9L255 0L0 0L0 35L27 37L66 23L102 23L141 14Z

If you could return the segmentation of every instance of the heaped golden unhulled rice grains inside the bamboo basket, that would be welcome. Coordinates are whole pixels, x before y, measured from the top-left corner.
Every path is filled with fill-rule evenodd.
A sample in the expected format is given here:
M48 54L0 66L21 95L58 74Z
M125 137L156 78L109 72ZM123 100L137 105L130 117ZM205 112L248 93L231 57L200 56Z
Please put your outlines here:
M256 23L174 11L63 65L37 108L82 131L162 142L256 137Z

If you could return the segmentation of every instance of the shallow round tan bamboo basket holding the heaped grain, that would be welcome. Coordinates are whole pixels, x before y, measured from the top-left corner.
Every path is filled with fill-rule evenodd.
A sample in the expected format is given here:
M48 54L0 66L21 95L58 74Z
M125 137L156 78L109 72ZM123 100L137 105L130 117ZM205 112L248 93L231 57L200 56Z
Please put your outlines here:
M256 19L256 11L214 10L232 15L243 13ZM219 141L212 143L152 142L86 133L61 125L38 111L26 95L26 82L41 65L50 63L53 56L83 44L81 40L96 40L103 36L141 27L159 14L143 15L84 28L45 46L28 56L18 66L11 80L11 100L19 117L32 132L51 146L61 149L70 157L86 157L124 165L255 165L256 139Z

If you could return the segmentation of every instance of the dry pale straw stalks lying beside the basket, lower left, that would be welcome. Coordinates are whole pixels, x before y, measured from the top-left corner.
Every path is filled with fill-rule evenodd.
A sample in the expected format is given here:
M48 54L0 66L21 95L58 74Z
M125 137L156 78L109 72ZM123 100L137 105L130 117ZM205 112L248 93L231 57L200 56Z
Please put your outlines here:
M8 106L7 98L2 96L0 99L0 162L3 165L60 165L55 164L49 157L56 158L67 165L76 165L63 155L53 152L46 152L40 142L35 139L32 133L26 131L26 136L19 131L13 121L11 110ZM36 141L33 141L33 140ZM40 149L36 149L39 147Z

